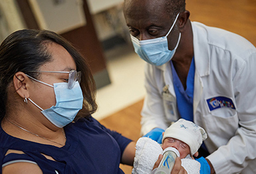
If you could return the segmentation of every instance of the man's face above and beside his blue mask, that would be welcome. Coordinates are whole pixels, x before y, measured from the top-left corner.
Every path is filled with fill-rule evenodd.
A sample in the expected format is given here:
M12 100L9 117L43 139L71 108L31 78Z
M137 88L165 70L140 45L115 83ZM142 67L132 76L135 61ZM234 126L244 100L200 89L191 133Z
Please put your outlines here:
M124 17L132 36L149 40L165 36L176 16L166 13L165 0L126 0ZM168 36L169 49L175 47L178 37L179 31L172 30Z

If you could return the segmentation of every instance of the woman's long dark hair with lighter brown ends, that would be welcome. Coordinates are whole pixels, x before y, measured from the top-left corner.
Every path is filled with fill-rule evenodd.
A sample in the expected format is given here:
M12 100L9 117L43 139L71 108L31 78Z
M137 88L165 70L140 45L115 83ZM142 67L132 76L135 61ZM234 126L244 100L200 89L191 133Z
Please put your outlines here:
M52 61L47 46L50 43L62 45L73 57L77 71L81 71L80 86L83 91L83 109L76 120L87 117L97 110L95 102L96 87L89 65L82 55L62 36L48 30L19 30L9 35L0 45L0 121L5 116L7 107L7 88L13 82L17 72L24 72L38 77L41 65Z

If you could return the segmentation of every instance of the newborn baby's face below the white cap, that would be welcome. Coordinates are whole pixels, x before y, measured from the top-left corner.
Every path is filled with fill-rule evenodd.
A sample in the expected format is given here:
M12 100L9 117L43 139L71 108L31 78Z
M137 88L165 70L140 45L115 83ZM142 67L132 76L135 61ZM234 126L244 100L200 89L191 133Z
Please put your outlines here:
M165 150L165 148L176 148L179 151L179 154L182 158L185 158L187 155L191 154L191 150L189 148L189 145L187 145L185 142L182 142L181 140L177 140L175 138L165 138L163 140L162 148Z

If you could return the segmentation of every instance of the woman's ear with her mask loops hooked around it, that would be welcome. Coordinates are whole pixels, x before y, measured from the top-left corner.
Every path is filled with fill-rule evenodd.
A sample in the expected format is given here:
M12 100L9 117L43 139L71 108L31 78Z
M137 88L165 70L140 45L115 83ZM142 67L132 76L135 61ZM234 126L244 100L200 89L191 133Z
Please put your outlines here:
M24 74L24 72L17 72L13 76L13 86L21 98L29 98L29 92L27 89L28 82L31 82L31 80L28 78L28 76L26 76L26 74Z

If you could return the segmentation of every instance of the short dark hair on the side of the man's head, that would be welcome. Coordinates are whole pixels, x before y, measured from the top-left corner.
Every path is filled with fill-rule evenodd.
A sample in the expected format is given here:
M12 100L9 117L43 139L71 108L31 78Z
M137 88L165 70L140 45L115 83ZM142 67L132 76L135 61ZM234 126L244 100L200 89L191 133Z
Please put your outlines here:
M165 7L167 13L175 17L186 10L186 2L185 0L165 0Z

